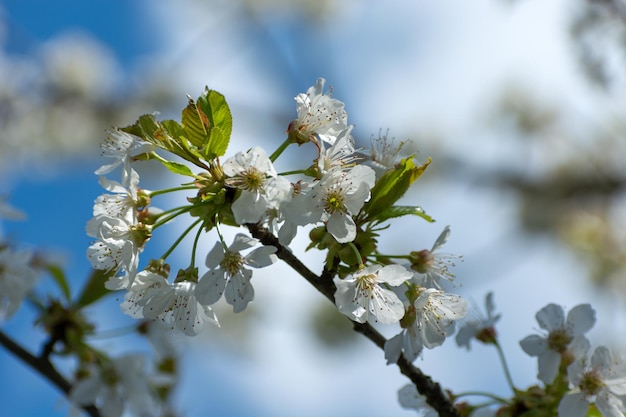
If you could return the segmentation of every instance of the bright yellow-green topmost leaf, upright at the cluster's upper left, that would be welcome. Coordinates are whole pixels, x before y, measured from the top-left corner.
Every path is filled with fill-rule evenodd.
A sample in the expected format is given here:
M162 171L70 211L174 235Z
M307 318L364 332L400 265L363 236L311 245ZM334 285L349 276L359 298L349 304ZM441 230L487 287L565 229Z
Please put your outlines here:
M226 98L206 87L204 93L198 97L197 108L208 119L204 126L209 126L209 140L202 147L202 154L208 160L224 155L233 130L233 116Z

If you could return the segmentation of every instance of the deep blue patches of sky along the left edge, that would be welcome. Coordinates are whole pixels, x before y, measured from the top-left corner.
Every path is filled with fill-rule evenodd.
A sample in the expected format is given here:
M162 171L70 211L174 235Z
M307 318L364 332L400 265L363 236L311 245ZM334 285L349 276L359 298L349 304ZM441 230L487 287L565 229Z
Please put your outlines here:
M11 56L33 56L51 39L71 32L82 32L107 45L121 67L130 67L137 56L154 52L156 47L141 22L139 2L96 0L76 1L3 1L4 53ZM6 80L5 80L6 81ZM102 131L107 128L103 126ZM28 220L5 222L4 234L14 241L49 250L66 265L75 291L89 273L85 249L89 238L84 227L94 198L101 193L93 171L98 167L99 152L91 157L73 160L51 169L35 169L2 179L3 193L9 201L27 213ZM45 280L38 289L51 289ZM41 338L30 325L34 320L29 307L3 325L3 330L24 341L30 350L40 348ZM22 416L65 416L67 403L56 389L28 367L15 361L0 349L0 401L3 414ZM28 399L25 401L25 399Z

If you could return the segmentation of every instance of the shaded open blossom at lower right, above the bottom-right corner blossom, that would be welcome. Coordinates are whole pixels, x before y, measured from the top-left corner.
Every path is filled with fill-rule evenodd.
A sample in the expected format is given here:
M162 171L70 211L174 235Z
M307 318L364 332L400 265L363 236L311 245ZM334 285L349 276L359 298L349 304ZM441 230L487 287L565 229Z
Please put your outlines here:
M584 334L595 324L595 311L591 305L581 304L570 310L566 320L563 307L548 304L537 312L536 318L548 334L527 336L520 345L524 352L538 357L538 378L551 384L559 371L562 355L577 357L588 349L589 342Z

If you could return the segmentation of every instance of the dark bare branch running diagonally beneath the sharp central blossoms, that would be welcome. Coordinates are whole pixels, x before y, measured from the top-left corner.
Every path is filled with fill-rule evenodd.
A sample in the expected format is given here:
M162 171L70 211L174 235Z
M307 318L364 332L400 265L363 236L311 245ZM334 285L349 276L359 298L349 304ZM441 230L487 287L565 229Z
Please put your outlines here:
M285 248L278 242L278 239L270 233L270 231L258 224L246 224L248 230L253 237L265 246L274 246L276 248L276 256L289 265L293 270L300 274L310 284L312 284L319 292L321 292L328 300L334 303L335 284L332 281L334 271L332 269L324 270L321 276L315 274L306 267L289 249ZM369 323L353 322L354 330L361 333L366 338L374 342L376 346L384 349L386 339ZM460 417L454 404L445 395L441 386L434 382L428 375L425 375L419 368L406 360L404 356L396 362L400 368L400 372L408 377L415 384L420 394L424 395L427 402L432 406L441 417Z

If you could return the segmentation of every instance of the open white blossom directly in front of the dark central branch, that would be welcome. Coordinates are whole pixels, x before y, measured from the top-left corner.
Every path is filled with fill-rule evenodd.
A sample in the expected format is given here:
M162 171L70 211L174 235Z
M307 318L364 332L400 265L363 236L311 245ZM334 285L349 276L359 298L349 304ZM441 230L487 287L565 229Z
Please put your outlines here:
M400 265L370 265L344 278L335 279L335 304L339 311L359 323L395 323L404 316L404 305L384 285L398 286L411 278Z

